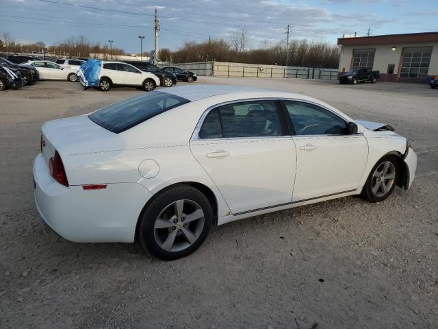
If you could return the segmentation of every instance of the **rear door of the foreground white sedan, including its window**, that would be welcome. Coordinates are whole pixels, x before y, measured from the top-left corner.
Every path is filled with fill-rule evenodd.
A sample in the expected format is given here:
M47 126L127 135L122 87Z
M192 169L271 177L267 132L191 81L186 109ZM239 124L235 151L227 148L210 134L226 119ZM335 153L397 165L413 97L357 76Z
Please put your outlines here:
M218 106L195 135L192 154L233 214L291 202L295 147L283 134L275 101Z

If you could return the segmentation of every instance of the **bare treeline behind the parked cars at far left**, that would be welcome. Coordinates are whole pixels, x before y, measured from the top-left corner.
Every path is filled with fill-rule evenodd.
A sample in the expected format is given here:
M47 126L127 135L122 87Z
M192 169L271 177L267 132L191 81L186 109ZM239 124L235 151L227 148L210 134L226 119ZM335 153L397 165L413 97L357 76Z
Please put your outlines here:
M64 41L55 42L54 45L47 46L44 42L38 41L34 43L21 43L17 42L8 33L3 33L0 36L0 42L7 47L2 47L3 51L11 53L41 53L44 49L44 53L55 53L62 56L81 57L88 58L90 53L106 53L110 54L109 45L101 45L99 42L91 42L85 36L70 36ZM125 55L123 49L113 47L113 55Z

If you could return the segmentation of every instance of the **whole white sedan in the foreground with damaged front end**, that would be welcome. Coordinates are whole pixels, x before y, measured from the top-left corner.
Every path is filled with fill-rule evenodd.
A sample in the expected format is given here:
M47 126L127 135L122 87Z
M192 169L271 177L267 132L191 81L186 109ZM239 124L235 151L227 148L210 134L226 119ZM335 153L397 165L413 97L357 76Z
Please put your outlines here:
M237 86L181 86L42 126L36 207L76 242L133 242L163 259L211 226L411 186L417 156L382 123L318 99Z

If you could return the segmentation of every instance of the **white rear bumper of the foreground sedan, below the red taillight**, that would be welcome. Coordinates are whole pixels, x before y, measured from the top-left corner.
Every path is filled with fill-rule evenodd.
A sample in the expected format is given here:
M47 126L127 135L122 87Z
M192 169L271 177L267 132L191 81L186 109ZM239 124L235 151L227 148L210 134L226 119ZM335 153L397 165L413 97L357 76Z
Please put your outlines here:
M35 204L50 228L74 242L133 242L138 217L152 193L137 183L107 184L83 191L49 174L44 158L34 160Z

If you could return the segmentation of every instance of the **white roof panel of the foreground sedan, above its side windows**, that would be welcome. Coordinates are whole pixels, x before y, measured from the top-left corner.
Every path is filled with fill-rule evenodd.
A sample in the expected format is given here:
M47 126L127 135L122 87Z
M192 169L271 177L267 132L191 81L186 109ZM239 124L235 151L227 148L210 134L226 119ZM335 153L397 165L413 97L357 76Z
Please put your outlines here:
M308 97L296 93L288 93L279 90L268 90L263 88L254 88L247 86L229 86L221 84L202 84L197 86L177 86L167 88L166 93L176 95L188 99L189 101L196 101L198 99L213 97L223 94L235 94L236 99L243 98L296 98L296 99L308 99L314 100L312 97ZM242 96L238 95L242 94Z

